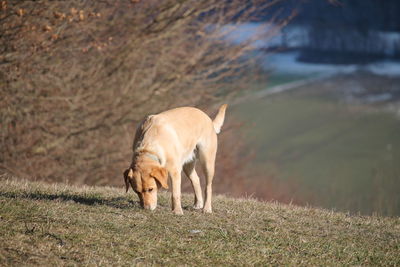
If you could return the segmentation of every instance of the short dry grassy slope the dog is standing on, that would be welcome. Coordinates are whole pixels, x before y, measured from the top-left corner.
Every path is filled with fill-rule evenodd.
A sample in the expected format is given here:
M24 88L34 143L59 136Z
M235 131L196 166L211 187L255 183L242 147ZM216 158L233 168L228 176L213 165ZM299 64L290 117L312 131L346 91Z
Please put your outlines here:
M110 187L2 178L0 265L399 265L400 219L214 198L214 213L154 212Z

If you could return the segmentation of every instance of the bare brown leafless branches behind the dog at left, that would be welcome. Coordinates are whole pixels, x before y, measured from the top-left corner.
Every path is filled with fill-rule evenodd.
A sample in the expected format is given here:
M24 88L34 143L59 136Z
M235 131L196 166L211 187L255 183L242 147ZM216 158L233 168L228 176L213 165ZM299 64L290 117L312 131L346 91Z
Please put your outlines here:
M207 108L263 78L248 56L263 36L225 37L277 2L1 1L1 170L119 185L145 114Z

